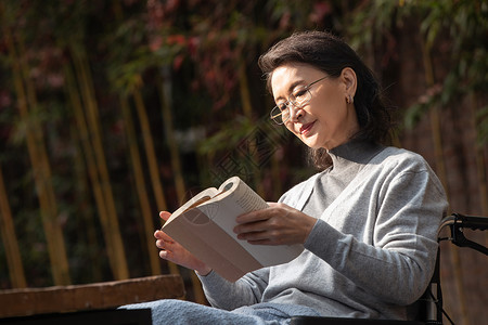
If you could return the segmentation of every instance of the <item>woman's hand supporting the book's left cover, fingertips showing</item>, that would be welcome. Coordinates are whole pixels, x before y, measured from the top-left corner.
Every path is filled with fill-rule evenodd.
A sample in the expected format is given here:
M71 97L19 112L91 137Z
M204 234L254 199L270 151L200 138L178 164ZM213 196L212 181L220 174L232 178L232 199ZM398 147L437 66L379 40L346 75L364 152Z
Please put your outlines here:
M171 213L167 211L159 212L159 217L165 221L168 220L170 216ZM209 266L184 249L183 246L175 242L165 232L157 230L154 233L154 237L157 239L156 247L160 249L159 257L162 259L195 270L200 275L207 275L210 273L211 269Z

